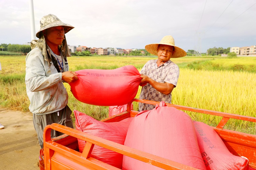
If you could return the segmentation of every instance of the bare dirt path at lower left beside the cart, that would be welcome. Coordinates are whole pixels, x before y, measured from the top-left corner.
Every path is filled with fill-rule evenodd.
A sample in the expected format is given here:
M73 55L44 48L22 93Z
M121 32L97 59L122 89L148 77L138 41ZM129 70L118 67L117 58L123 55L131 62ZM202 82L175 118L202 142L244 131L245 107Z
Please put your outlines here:
M0 109L0 169L35 170L40 146L33 125L32 113Z

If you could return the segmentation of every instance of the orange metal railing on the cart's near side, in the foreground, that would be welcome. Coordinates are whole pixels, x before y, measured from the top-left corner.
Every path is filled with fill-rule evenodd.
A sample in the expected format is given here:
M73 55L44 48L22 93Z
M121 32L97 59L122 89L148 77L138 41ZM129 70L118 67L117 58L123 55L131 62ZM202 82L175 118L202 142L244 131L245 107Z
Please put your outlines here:
M60 145L54 141L51 141L51 129L60 131L64 134L73 136L78 139L82 139L86 141L85 148L82 153L77 152L75 150L71 150L68 147ZM93 158L90 158L90 154L92 152L93 146L99 145L101 147L107 148L109 150L113 150L115 152L121 153L123 155L129 156L131 158L138 159L140 161L152 164L154 166L158 166L163 169L170 170L198 170L196 168L183 165L181 163L177 163L165 158L161 158L156 155L152 155L140 150L136 150L106 139L99 138L97 136L93 136L76 129L72 129L57 123L53 123L51 125L47 125L44 129L44 155L45 155L45 167L46 169L51 169L50 160L53 152L60 152L61 154L70 157L74 160L79 161L81 164L91 165L94 169L102 169L102 170L114 170L118 169L114 166L110 166L101 161L97 161Z

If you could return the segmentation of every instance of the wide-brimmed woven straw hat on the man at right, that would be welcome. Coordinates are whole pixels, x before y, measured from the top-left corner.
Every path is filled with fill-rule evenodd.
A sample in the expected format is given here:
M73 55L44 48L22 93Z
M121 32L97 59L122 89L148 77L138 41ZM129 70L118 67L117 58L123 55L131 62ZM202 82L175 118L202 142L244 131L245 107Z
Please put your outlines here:
M170 45L170 46L174 47L174 53L171 56L171 58L179 58L179 57L184 57L184 56L187 55L187 53L184 50L182 50L181 48L175 46L174 38L172 36L170 36L170 35L164 36L161 39L160 43L146 45L145 49L149 53L151 53L153 55L157 55L157 48L158 48L159 44Z

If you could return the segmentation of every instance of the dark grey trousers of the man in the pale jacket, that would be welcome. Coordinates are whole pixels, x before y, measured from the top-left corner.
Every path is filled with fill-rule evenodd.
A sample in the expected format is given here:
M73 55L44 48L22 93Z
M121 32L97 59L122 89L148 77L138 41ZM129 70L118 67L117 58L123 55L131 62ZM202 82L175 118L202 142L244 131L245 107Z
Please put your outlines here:
M60 125L74 128L72 118L71 118L72 111L68 107L68 105L58 112L53 112L47 115L33 114L33 123L34 123L35 130L37 132L38 142L41 148L43 148L43 130L46 127L46 125L50 125L52 123L58 123ZM51 138L54 138L60 135L63 135L63 133L60 133L55 130L51 130Z

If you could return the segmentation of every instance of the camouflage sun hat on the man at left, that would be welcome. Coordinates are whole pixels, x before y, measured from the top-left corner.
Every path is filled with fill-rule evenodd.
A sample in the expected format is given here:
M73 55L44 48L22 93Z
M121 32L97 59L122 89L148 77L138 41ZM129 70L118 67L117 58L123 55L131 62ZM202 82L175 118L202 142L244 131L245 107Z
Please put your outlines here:
M47 28L64 26L65 34L71 29L75 28L69 24L63 23L56 15L46 15L40 20L40 30L36 33L36 37L40 38L40 32L46 30Z

